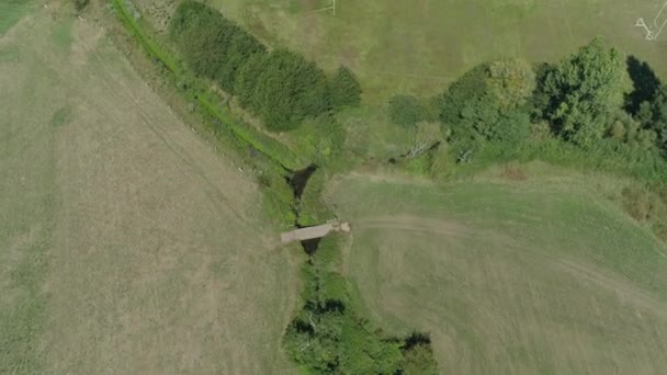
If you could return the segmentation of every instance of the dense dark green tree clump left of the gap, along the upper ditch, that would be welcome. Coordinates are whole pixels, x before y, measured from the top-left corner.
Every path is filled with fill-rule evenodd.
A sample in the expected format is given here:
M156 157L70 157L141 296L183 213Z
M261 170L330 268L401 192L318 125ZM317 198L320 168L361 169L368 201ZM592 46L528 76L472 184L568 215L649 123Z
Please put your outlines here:
M284 48L268 50L219 11L182 2L169 35L186 66L238 98L270 130L289 130L305 118L357 106L361 87L341 66L328 77L315 63Z

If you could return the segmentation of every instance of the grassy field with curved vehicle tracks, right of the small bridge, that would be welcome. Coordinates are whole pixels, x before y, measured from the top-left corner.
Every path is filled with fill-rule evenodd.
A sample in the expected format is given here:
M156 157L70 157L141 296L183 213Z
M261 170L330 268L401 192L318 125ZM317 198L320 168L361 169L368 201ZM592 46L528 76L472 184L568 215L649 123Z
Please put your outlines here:
M600 197L623 184L531 164L442 186L351 174L328 200L369 310L430 331L443 374L660 374L667 250Z

